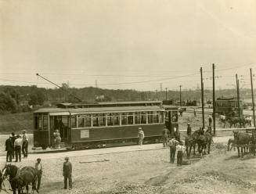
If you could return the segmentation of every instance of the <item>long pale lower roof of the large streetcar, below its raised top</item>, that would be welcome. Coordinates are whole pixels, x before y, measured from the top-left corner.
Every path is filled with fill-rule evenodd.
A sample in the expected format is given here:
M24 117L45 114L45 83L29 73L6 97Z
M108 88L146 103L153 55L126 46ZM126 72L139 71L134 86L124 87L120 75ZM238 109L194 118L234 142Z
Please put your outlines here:
M79 114L79 113L114 113L114 112L136 112L136 111L157 111L164 110L160 106L114 106L114 107L96 107L96 108L78 108L78 109L61 109L61 108L42 108L34 113L60 113Z

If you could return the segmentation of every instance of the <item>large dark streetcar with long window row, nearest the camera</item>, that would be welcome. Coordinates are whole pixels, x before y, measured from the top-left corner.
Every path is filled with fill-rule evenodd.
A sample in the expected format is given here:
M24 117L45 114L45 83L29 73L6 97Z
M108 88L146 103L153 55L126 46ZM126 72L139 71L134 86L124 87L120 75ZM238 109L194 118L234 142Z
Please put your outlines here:
M56 130L61 147L69 149L134 145L139 127L144 142L160 142L164 126L178 129L176 106L159 101L62 103L34 111L34 148L52 147Z

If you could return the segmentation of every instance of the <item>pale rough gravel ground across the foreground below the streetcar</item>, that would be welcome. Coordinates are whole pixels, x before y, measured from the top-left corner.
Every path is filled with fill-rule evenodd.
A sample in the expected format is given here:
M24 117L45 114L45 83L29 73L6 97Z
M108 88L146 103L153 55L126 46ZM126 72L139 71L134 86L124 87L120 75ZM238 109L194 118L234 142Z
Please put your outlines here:
M109 161L92 162L100 160ZM168 163L169 149L76 156L70 157L70 161L74 168L74 189L62 189L63 160L49 159L42 161L41 193L256 192L256 157L248 155L239 159L237 153L227 152L222 144L214 145L210 155L182 167ZM18 164L34 166L34 161Z

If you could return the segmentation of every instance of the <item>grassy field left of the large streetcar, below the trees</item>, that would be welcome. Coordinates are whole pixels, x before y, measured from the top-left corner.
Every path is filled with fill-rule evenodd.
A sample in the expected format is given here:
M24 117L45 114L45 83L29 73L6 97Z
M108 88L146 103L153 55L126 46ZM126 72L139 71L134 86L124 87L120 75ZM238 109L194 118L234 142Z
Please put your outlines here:
M33 131L32 112L0 115L0 134L20 133L23 129Z

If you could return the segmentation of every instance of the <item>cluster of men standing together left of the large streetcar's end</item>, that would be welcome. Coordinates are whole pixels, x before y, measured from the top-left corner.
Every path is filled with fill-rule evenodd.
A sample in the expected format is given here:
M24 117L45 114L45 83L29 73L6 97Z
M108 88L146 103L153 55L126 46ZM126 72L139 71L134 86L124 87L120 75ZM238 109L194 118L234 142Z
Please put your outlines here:
M25 130L22 131L23 135L15 135L13 132L5 141L6 162L12 162L15 156L15 162L21 161L21 151L24 158L28 154L28 135Z

